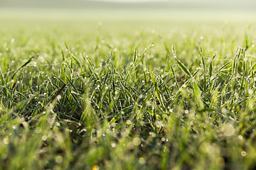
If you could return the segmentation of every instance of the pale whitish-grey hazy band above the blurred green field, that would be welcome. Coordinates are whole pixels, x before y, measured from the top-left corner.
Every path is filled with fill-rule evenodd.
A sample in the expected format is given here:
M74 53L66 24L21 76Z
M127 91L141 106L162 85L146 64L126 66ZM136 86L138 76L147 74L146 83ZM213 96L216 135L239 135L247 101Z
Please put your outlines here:
M0 0L1 18L215 18L248 20L254 0ZM134 18L136 16L136 18Z

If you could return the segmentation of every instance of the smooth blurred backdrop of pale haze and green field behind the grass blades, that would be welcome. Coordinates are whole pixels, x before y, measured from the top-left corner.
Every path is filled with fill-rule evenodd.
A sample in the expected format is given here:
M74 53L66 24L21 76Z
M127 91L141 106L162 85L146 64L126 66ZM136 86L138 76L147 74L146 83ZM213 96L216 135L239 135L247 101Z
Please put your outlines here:
M166 40L207 35L209 42L213 35L227 35L240 45L245 31L255 30L255 8L255 0L0 0L0 35L11 40L23 33L44 42L39 33L51 32L60 42L113 43L137 42L132 38L140 36L146 44L160 35Z

